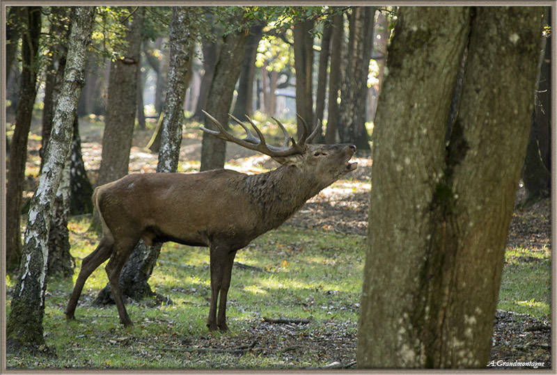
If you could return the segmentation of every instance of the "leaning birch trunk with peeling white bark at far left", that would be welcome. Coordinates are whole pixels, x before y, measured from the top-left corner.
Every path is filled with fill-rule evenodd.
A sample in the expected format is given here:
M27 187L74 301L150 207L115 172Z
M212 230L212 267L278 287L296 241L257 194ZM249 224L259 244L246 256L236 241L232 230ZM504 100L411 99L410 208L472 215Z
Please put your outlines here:
M62 168L72 141L72 123L84 83L84 65L88 45L91 42L94 13L95 7L77 7L72 17L72 31L68 39L68 61L61 95L54 113L54 127L47 150L47 161L40 175L37 191L31 198L22 262L6 323L8 353L14 353L22 346L29 348L45 343L42 317L45 314L47 240L52 202L62 178Z

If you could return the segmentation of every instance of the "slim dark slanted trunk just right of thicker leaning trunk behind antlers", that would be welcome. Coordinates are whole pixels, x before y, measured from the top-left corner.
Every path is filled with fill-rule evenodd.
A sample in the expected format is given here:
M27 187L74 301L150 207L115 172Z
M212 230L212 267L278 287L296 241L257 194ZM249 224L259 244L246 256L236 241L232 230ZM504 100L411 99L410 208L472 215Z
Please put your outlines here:
M257 47L263 35L263 26L265 25L252 26L249 32L242 72L238 80L238 96L233 112L233 115L237 118L253 115L253 77L256 76Z

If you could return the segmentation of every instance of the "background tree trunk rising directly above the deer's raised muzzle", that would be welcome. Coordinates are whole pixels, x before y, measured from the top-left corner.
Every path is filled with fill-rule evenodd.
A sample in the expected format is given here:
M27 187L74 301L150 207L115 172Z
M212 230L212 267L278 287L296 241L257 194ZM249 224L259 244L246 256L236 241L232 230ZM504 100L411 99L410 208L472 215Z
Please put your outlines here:
M340 88L340 142L356 145L358 152L363 154L370 152L366 130L366 93L374 15L374 7L352 8L347 67Z

